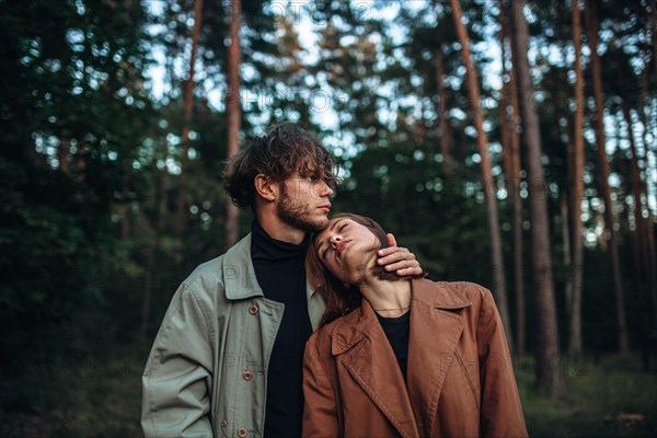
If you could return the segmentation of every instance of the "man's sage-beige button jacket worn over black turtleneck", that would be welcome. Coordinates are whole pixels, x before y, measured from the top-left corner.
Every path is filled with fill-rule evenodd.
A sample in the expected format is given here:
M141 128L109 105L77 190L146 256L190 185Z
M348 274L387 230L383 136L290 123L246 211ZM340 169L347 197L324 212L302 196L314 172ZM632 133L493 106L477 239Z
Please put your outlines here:
M189 275L175 292L142 377L147 438L262 437L266 364L285 311L263 297L251 234ZM313 330L324 312L308 288Z

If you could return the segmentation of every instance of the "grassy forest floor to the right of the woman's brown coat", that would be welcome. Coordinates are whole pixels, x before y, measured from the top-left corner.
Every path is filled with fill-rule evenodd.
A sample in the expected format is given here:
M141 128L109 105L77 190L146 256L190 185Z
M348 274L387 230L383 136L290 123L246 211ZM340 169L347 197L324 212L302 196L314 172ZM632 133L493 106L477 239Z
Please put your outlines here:
M657 431L657 377L642 371L634 357L566 361L568 395L563 400L535 393L531 358L520 358L517 364L516 378L532 437L650 437Z

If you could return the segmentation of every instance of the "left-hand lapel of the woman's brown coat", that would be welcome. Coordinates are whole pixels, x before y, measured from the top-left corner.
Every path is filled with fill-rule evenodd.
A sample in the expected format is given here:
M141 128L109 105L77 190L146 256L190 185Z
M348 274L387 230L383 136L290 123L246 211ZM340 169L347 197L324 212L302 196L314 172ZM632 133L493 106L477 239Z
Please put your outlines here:
M367 300L362 300L360 309L337 327L332 349L334 355L339 355L338 362L399 434L402 437L419 437L404 377Z

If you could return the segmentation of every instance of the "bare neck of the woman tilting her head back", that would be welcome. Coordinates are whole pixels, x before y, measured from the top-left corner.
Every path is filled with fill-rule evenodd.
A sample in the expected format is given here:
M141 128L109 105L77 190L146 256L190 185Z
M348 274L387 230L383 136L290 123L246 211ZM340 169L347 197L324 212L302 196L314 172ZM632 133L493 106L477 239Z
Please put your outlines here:
M401 316L411 308L411 281L369 278L359 285L360 293L381 316Z

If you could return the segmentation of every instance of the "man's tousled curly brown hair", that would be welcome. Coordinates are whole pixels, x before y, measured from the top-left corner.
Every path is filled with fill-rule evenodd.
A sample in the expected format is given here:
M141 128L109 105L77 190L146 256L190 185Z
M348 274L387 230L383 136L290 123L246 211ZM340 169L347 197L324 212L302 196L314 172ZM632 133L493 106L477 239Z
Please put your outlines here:
M256 175L283 182L295 172L302 177L314 175L332 188L337 185L335 160L322 142L295 125L277 125L227 162L223 188L234 205L253 208Z

